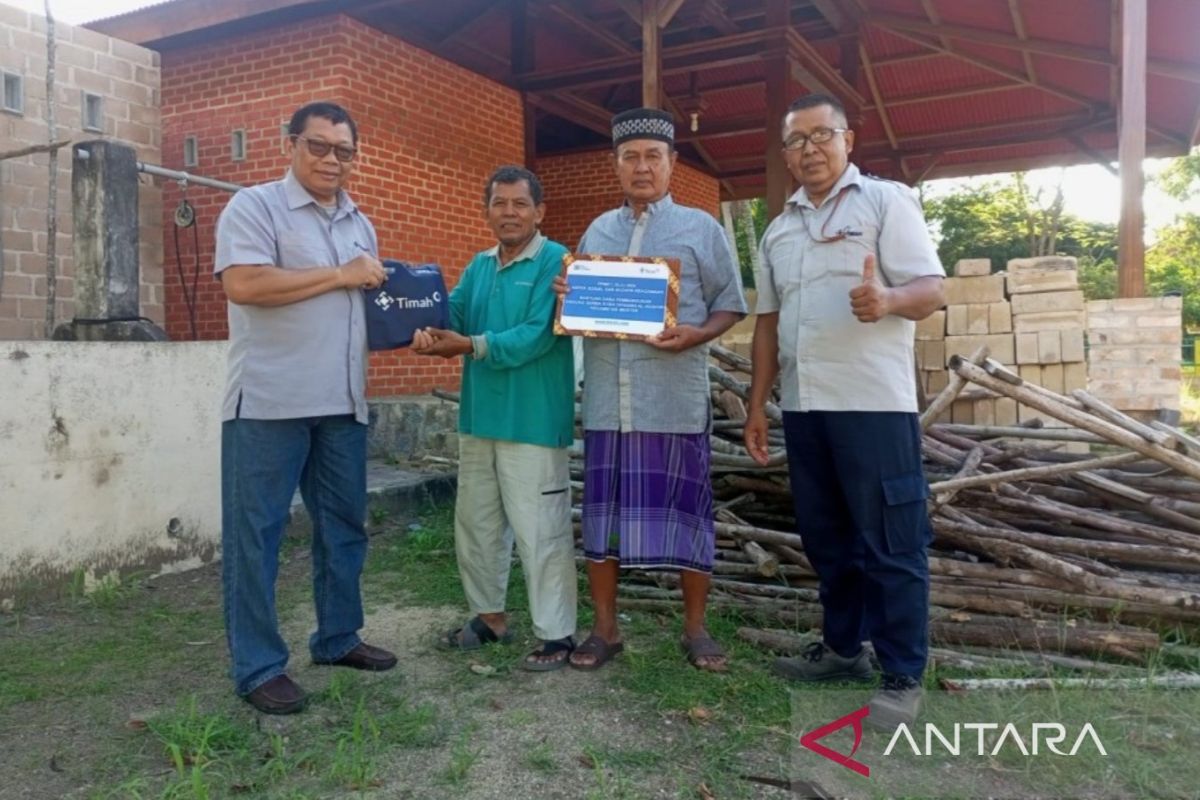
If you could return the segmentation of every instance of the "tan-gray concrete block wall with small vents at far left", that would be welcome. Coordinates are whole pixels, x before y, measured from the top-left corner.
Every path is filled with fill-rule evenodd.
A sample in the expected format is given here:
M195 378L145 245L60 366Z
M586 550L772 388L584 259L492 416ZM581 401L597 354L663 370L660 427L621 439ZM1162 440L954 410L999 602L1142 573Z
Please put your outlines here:
M140 161L160 163L158 54L94 31L55 24L54 113L60 139L114 139L133 146ZM0 71L19 76L19 112L0 110L0 150L44 144L46 19L0 5ZM98 95L100 131L83 128L83 95ZM55 319L74 314L71 152L59 151L58 281ZM46 251L49 156L0 162L0 339L42 338L46 319ZM139 261L142 314L163 323L162 191L142 176Z

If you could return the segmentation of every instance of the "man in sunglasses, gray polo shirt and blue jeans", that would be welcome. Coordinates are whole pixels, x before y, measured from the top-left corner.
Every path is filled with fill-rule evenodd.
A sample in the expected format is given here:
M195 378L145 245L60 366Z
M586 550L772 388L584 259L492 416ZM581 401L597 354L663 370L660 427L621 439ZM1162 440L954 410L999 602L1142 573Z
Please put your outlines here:
M374 228L343 191L358 130L311 103L288 126L283 180L242 190L217 221L215 272L229 299L221 433L224 622L235 691L265 714L305 693L287 675L275 615L280 543L296 488L313 521L314 663L390 669L364 643L366 323L362 289L385 277Z

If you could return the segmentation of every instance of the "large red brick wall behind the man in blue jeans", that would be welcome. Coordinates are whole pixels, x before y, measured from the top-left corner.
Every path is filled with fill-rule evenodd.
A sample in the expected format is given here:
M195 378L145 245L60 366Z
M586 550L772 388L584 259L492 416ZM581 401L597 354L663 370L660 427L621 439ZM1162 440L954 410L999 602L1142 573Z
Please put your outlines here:
M470 257L491 245L482 218L484 181L523 157L516 92L347 17L307 20L162 58L163 162L184 169L184 138L197 136L188 172L236 184L276 180L287 169L280 126L313 100L344 106L359 126L360 160L349 191L374 222L380 254L434 261L454 285ZM229 138L246 130L246 160ZM200 240L198 338L224 338L226 302L212 279L214 227L229 196L192 187ZM170 224L179 190L164 192ZM164 231L167 329L192 338ZM181 231L185 271L193 270L192 231ZM458 384L457 362L407 351L374 354L370 393L410 395Z

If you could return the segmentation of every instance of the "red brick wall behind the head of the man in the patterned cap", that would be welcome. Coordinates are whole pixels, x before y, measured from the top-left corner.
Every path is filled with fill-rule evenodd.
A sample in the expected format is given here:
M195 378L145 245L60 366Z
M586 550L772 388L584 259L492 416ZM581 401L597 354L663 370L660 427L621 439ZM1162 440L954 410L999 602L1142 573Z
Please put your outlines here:
M546 191L542 230L571 249L588 224L608 209L620 205L620 186L613 173L610 150L538 158L538 178ZM720 217L721 190L716 179L678 162L671 175L676 203L691 205Z

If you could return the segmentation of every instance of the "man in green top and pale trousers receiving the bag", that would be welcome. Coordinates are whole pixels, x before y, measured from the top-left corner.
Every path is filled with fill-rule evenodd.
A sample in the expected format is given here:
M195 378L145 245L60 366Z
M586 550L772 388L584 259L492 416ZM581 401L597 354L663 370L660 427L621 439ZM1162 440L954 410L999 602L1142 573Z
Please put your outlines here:
M542 644L522 666L559 669L575 649L575 541L566 449L574 440L571 339L554 336L551 290L566 248L539 230L538 176L500 167L485 216L498 243L478 253L450 293L454 330L425 329L413 350L466 356L458 407L455 548L474 614L443 644L470 650L509 642L504 600L516 539Z

